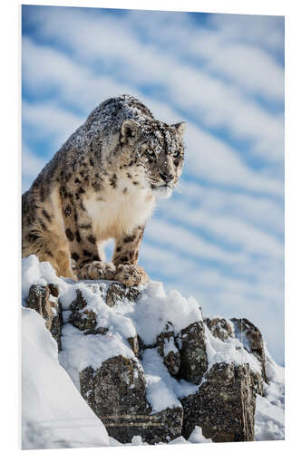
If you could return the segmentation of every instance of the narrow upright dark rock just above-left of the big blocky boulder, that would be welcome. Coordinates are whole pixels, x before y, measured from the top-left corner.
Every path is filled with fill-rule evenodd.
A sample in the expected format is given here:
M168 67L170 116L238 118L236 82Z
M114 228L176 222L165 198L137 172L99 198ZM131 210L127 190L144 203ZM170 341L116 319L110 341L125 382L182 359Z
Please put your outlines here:
M182 329L176 338L180 350L180 371L178 379L200 384L208 369L204 325L200 321Z

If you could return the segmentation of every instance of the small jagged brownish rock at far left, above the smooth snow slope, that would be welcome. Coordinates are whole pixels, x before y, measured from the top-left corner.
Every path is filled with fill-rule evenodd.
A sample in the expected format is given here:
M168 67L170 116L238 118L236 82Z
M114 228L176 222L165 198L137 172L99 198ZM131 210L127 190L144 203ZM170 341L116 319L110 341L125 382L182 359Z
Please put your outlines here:
M58 350L61 351L62 306L54 298L54 294L58 294L54 286L56 285L52 285L52 293L48 284L32 284L26 299L26 305L41 314L45 320L46 329L53 335L54 340L58 344Z

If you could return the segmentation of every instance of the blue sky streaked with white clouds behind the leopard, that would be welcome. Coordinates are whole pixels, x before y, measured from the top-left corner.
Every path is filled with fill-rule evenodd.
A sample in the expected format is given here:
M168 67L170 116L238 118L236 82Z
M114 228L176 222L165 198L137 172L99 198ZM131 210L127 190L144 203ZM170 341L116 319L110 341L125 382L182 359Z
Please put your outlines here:
M283 17L26 5L22 25L23 190L111 96L186 121L140 264L204 313L256 323L283 364Z

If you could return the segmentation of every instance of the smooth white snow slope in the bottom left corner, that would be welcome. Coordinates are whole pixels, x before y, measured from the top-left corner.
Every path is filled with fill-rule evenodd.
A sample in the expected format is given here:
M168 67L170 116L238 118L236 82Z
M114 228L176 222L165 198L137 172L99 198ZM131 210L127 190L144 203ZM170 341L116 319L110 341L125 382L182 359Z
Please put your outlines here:
M109 446L102 421L85 403L58 361L44 319L22 309L23 448Z

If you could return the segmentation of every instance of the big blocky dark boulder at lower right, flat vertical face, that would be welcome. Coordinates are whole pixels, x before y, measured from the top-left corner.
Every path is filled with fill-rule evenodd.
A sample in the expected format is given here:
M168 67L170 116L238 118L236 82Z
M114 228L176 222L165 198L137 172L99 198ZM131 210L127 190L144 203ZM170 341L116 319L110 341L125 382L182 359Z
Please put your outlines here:
M180 400L182 435L189 439L195 426L213 442L254 440L256 395L248 364L216 363L200 390Z

